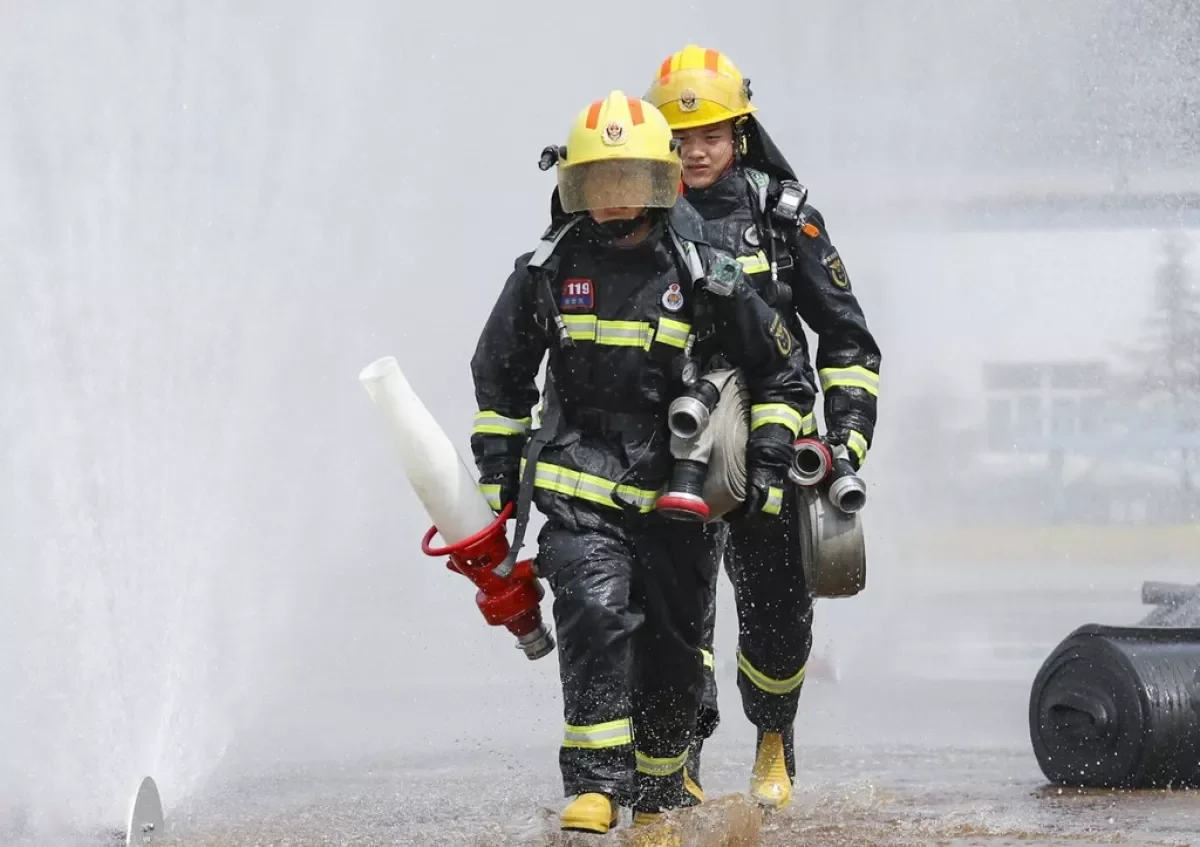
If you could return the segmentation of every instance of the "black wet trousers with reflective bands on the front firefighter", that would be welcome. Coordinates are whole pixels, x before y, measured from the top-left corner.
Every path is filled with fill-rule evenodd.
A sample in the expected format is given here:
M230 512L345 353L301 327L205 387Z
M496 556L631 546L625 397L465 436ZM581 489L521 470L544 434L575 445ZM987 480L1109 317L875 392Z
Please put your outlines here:
M602 528L550 517L538 572L554 596L565 720L564 795L638 811L690 805L683 769L703 689L704 527L617 513Z

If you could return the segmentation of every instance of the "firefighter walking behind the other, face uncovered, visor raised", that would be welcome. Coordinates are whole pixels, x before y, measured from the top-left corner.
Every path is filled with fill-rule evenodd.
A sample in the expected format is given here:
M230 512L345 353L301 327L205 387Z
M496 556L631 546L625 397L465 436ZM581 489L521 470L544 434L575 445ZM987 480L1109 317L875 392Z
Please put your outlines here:
M824 218L806 203L808 191L755 118L750 97L749 80L728 56L696 44L668 56L646 94L682 143L684 196L704 218L710 244L738 257L800 344L806 346L803 324L817 336L824 439L845 446L858 470L875 433L880 348ZM814 378L811 367L808 374ZM815 434L811 409L804 412L803 434ZM769 809L791 800L792 727L812 645L796 493L788 486L780 521L731 522L725 548L738 608L738 689L743 710L758 729L750 791ZM712 548L706 565L715 570L720 554ZM715 603L715 594L708 602ZM709 612L709 621L714 614ZM712 637L709 624L709 651ZM702 738L719 717L715 678L710 669L707 674L701 739L692 745L689 767L696 780Z

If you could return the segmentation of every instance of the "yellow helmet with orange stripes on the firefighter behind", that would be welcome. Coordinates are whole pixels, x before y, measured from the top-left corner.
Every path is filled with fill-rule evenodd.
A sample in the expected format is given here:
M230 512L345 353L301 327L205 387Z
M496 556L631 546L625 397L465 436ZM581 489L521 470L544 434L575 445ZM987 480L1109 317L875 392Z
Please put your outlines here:
M750 103L750 80L730 58L696 44L667 56L646 100L662 112L672 130L691 130L757 112Z

